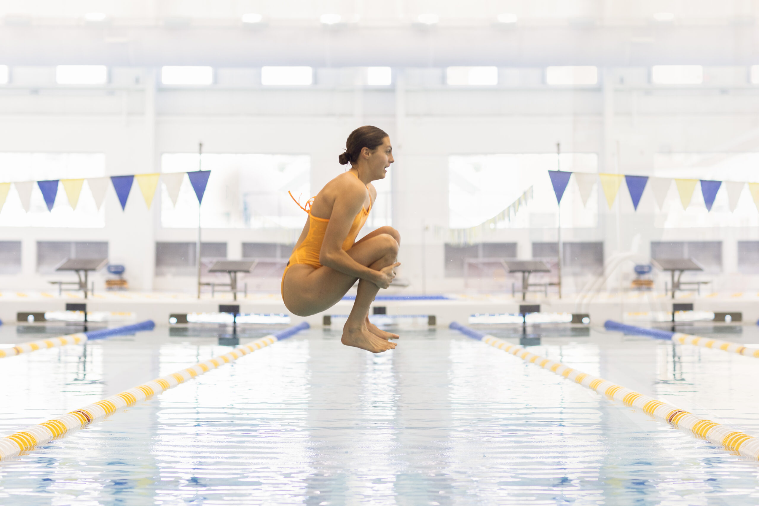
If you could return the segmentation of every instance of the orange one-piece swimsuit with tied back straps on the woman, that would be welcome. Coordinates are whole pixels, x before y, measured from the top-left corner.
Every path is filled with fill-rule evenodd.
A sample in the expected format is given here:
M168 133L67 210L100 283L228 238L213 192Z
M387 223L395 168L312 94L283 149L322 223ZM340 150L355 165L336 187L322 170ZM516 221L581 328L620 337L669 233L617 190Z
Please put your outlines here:
M358 178L358 176L353 172L351 172L351 174ZM290 196L292 196L292 193L290 193ZM298 246L295 247L292 254L290 255L287 266L285 266L285 272L282 273L282 284L279 288L280 293L282 293L285 288L285 275L287 275L290 266L296 263L304 263L307 266L313 267L313 269L319 269L322 266L322 264L319 262L319 255L322 251L322 243L324 242L324 234L327 230L329 218L317 218L311 214L311 204L313 203L314 198L316 197L312 197L310 200L308 200L305 206L301 206L301 204L298 203L298 201L293 197L295 203L297 203L301 209L308 213L308 233L306 234L303 242L301 244L298 244ZM369 209L366 209L363 206L361 207L361 211L358 212L355 218L353 218L351 230L348 231L348 237L345 237L345 240L342 241L342 249L344 251L350 250L351 247L353 247L355 244L358 232L361 231L364 223L367 222L367 218L369 217L369 212L372 210L372 206L373 203L370 196ZM284 294L282 294L282 296L284 297Z

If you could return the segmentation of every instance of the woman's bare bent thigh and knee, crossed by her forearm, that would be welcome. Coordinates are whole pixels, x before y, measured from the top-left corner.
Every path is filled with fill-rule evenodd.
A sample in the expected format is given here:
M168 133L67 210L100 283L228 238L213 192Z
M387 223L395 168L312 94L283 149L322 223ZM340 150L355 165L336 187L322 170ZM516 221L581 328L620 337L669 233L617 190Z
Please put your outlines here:
M379 234L354 244L345 253L362 266L368 267L385 256L389 248L393 247L394 241L388 234ZM282 298L292 313L298 316L313 315L338 303L356 279L326 266L313 269L305 264L294 264L285 275Z

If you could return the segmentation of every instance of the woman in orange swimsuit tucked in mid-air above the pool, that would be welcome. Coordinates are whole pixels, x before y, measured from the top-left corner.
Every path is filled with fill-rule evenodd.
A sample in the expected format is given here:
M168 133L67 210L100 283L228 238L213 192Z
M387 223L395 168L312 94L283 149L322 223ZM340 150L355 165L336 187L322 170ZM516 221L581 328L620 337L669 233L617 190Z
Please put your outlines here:
M310 316L332 307L358 279L358 291L342 344L380 353L391 350L398 338L369 321L369 307L379 288L395 278L401 236L381 227L356 241L374 206L372 181L383 179L392 159L390 137L377 127L361 127L348 136L339 157L350 170L329 181L302 209L308 213L282 275L282 300L298 316ZM310 205L310 206L309 206Z

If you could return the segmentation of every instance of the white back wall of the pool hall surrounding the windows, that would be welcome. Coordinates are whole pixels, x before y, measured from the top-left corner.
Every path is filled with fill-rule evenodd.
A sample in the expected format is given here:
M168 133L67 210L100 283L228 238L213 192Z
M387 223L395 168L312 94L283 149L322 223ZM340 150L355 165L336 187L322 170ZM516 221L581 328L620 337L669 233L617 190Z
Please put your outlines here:
M410 68L395 69L396 80L405 84L380 89L345 84L353 69L322 69L321 83L304 89L263 89L251 78L234 89L220 82L197 90L153 88L152 69L121 68L112 71L118 84L78 90L42 83L44 68L11 69L14 85L0 89L0 151L104 152L107 175L159 171L161 153L194 152L199 141L204 152L307 154L316 193L343 170L337 156L350 131L375 124L389 132L395 146L394 220L402 234L402 275L411 281L409 290L422 290L423 266L427 291L460 290L461 280L443 277L444 237L435 233L448 221L449 155L550 153L560 142L562 152L599 153L600 171L651 174L656 152L755 151L759 88L746 83L748 70L743 70L707 68L716 84L663 89L646 83L646 68L607 69L604 99L602 86L557 90L518 79L520 72L540 75L536 68L502 69L502 75L517 77L477 89L443 85L441 69ZM219 79L256 72L222 69ZM24 243L23 272L0 278L0 287L49 288L51 277L36 274L36 240L108 240L111 261L127 266L133 288L192 289L194 278L153 275L154 244L193 241L197 232L160 226L159 193L147 210L133 190L122 212L109 192L105 229L0 228L0 240ZM565 230L563 239L603 240L608 257L617 250L616 218L603 196L597 205L598 227ZM735 272L734 243L759 239L755 228L663 229L645 212L621 219L625 230L641 233L646 254L650 240L723 240L726 276L720 283L754 283ZM514 229L490 240L518 242L520 256L529 256L533 240L555 240L553 234ZM242 242L280 235L219 229L204 231L203 240L226 241L234 257ZM630 241L631 234L623 234L619 247L629 248ZM276 291L279 280L264 280L257 288Z

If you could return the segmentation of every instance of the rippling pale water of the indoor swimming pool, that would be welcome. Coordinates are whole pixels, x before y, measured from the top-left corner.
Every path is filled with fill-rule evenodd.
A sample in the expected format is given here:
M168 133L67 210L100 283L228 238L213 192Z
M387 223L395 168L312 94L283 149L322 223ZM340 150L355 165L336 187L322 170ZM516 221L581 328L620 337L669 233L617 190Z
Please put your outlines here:
M3 359L2 435L231 350L176 331ZM544 334L530 350L759 434L757 359ZM458 332L405 330L379 356L339 338L301 332L2 462L0 504L759 502L757 462Z

